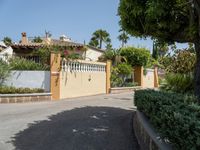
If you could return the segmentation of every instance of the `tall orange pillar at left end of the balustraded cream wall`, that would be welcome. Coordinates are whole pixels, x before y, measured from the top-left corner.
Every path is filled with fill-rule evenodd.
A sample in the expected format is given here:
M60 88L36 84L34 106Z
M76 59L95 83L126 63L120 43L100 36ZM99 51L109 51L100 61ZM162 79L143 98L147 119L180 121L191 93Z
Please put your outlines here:
M51 53L51 93L53 100L60 99L60 54Z

